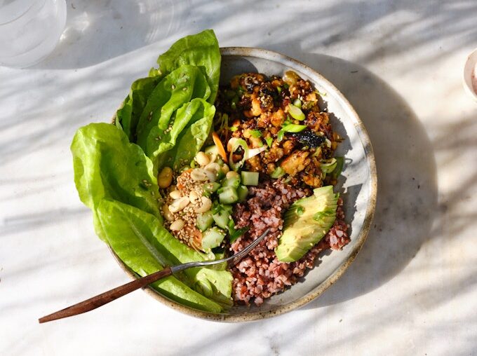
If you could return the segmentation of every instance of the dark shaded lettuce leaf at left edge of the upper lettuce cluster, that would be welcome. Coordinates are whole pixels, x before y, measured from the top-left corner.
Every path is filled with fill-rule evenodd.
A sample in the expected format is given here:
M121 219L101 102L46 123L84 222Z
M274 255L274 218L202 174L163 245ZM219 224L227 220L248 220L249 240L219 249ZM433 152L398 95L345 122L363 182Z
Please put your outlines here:
M131 85L130 93L121 108L116 111L116 126L126 132L130 142L135 142L136 126L145 109L147 98L161 78L163 75L160 71L152 71L147 78L137 79Z

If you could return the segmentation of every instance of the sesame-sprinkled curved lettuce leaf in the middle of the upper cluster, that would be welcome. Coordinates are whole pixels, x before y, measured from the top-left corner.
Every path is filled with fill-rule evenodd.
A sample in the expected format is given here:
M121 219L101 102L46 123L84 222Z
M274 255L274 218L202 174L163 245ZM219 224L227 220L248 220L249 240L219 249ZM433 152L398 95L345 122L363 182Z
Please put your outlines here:
M163 139L174 112L193 98L207 99L209 95L210 87L198 67L184 65L172 71L149 95L137 123L137 144L153 158L157 142ZM148 137L152 139L148 141Z

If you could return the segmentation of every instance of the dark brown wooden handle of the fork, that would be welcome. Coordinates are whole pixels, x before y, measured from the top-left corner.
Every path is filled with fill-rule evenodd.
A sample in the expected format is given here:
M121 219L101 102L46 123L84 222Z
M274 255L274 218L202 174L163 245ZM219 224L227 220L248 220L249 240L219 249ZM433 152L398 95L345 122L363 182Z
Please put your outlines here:
M97 296L93 296L93 298L90 299L86 299L86 301L82 301L81 303L74 304L73 306L69 306L68 308L58 310L53 314L41 317L38 321L40 323L51 322L52 320L62 319L63 317L71 317L73 315L86 313L90 310L99 308L100 306L104 306L110 301L114 301L115 299L118 299L123 295L133 292L136 289L146 287L147 285L156 282L156 280L160 280L161 278L168 277L172 274L173 273L170 270L170 267L164 268L162 271L157 271L150 275L146 275L145 277L133 280L132 282L128 282L126 283L126 285L121 285L120 287L111 289L108 292L98 294Z

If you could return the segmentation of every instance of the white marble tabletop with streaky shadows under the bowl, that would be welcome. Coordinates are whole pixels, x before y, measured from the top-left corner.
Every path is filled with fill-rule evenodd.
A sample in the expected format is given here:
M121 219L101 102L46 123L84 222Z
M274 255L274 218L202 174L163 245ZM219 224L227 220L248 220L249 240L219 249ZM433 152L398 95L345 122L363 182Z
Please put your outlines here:
M477 104L462 66L477 2L68 1L55 53L0 68L0 355L477 355ZM220 324L137 291L37 318L128 278L95 237L69 144L108 121L175 39L277 50L349 97L377 156L375 227L321 298Z

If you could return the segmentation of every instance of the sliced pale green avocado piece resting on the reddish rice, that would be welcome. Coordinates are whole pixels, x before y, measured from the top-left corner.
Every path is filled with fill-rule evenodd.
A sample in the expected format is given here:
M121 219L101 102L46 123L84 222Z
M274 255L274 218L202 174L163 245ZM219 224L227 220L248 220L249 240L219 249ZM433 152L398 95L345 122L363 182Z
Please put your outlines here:
M336 219L339 193L332 186L322 186L313 196L297 200L285 212L283 235L275 249L282 262L294 262L302 258L311 247L321 240Z

